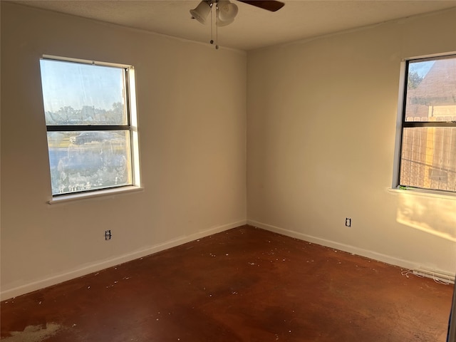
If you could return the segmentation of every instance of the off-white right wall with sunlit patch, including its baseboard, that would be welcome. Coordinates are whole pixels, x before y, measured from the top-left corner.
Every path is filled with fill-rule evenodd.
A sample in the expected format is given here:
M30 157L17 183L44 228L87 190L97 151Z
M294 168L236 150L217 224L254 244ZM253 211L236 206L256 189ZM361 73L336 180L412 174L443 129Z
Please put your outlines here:
M388 192L400 61L456 51L455 23L452 9L249 52L248 222L455 274L456 201Z

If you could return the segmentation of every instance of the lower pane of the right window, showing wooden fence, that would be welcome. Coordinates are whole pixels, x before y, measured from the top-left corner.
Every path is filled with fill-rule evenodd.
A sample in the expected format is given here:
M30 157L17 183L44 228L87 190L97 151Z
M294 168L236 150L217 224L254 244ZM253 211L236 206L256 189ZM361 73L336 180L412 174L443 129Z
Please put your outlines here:
M403 129L400 185L456 191L456 127Z

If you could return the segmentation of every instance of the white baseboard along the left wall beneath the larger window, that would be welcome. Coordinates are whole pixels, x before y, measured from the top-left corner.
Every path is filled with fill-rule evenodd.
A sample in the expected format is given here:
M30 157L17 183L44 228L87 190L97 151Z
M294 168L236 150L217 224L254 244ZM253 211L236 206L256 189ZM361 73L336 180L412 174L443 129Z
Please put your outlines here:
M161 252L165 249L176 247L181 244L185 244L187 242L191 242L191 241L194 241L197 239L202 239L203 237L207 237L212 234L224 232L228 229L236 228L236 227L242 226L244 224L247 224L246 220L232 222L230 224L223 224L222 226L211 227L209 229L205 229L205 230L197 232L195 234L190 234L185 237L177 237L176 239L171 239L162 244L155 244L153 246L146 247L144 249L139 249L135 252L123 254L118 257L113 257L111 259L107 259L107 260L103 260L103 261L93 262L91 264L81 266L78 269L73 269L71 271L66 271L66 272L62 272L59 274L55 274L53 276L48 276L43 279L38 279L38 280L33 281L28 284L23 284L20 286L13 287L11 289L6 289L4 291L1 291L0 300L4 301L6 299L11 299L16 296L21 296L22 294L28 294L31 291L36 291L38 289L43 289L48 286L59 284L63 281L75 279L80 276L86 276L87 274L90 274L90 273L93 273L96 271L101 271L102 269L107 269L108 267L117 266L119 264L123 264L124 262L146 257L147 255Z

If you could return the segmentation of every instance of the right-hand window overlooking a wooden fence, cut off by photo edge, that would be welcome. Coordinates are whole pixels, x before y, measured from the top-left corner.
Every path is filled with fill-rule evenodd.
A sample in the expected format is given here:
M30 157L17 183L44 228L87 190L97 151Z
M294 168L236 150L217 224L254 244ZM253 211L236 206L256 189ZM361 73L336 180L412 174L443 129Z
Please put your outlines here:
M456 55L405 61L404 73L395 186L456 193Z

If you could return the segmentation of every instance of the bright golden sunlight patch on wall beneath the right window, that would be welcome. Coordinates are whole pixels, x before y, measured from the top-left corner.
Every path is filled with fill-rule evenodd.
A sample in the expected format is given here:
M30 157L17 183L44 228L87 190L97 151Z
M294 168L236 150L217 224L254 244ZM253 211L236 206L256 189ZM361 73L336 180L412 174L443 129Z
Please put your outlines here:
M400 194L397 221L456 242L456 200Z

